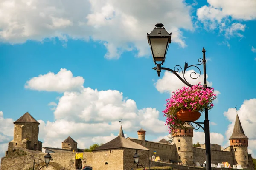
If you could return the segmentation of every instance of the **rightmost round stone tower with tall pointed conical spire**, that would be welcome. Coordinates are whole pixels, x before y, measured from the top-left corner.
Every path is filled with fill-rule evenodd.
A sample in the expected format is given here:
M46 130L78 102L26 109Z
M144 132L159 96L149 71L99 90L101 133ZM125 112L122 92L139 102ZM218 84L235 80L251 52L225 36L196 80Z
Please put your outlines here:
M244 134L243 127L236 113L236 122L233 133L230 137L230 146L233 147L234 164L241 164L242 167L249 166L248 159L248 139Z

